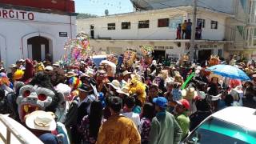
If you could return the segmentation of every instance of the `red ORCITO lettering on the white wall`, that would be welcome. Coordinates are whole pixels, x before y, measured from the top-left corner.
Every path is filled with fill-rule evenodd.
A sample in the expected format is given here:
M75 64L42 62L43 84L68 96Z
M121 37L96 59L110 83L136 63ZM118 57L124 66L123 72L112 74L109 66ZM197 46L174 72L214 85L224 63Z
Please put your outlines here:
M20 20L34 20L34 13L19 11L19 10L6 10L0 9L0 18L6 19L20 19Z

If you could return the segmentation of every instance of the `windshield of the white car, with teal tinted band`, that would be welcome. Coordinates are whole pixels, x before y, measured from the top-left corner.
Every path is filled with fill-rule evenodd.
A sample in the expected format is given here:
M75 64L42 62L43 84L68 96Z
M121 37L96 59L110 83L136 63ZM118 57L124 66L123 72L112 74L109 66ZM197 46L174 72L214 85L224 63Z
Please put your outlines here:
M185 141L186 144L253 144L255 142L255 130L213 117L203 122Z

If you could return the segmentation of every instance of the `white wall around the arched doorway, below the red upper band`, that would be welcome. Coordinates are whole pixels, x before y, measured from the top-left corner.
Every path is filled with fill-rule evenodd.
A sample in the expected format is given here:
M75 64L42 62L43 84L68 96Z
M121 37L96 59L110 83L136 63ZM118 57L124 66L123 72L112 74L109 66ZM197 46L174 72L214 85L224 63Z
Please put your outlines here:
M50 39L49 42L53 45L53 60L58 61L64 54L64 44L67 39L74 38L76 35L75 16L32 13L34 13L33 21L26 18L24 20L0 18L0 35L6 39L6 59L3 61L7 65L14 63L19 58L28 58L26 40L30 36L42 36ZM59 32L67 32L68 37L59 37Z

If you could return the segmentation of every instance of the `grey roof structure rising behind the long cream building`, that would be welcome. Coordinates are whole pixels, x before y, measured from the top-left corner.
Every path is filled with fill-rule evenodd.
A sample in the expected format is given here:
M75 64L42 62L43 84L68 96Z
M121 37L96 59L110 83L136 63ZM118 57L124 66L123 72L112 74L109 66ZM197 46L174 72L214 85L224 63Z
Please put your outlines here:
M157 10L168 7L193 6L193 0L130 0L138 10ZM198 6L217 10L226 14L234 14L234 0L203 0Z

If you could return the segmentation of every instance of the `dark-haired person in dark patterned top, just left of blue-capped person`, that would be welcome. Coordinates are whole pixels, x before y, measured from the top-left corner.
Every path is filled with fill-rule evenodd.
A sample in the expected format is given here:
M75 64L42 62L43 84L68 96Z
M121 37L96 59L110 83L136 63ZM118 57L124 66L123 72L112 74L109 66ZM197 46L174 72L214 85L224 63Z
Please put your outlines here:
M150 128L151 128L151 122L154 118L154 105L150 102L145 103L143 106L142 111L142 130L141 130L141 137L142 137L142 144L149 143L149 136L150 136Z

